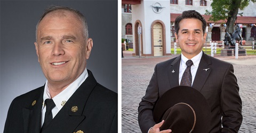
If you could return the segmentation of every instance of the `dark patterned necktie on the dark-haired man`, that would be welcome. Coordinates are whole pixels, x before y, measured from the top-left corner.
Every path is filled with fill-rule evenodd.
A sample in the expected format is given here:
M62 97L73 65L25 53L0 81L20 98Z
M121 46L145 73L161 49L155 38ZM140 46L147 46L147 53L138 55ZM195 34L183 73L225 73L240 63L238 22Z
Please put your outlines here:
M191 66L193 65L193 61L189 59L186 65L187 68L182 75L180 86L191 86L192 84Z

